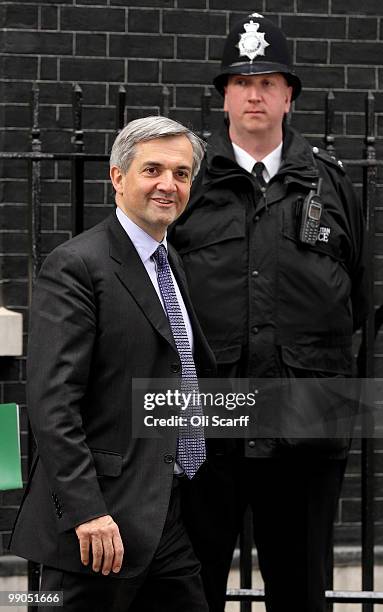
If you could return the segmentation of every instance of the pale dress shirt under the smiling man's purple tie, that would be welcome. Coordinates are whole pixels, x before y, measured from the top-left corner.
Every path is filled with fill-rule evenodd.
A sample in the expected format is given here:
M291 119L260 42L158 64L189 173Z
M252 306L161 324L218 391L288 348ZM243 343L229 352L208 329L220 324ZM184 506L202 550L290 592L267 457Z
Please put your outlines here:
M138 255L140 256L140 259L141 259L142 263L145 266L145 269L146 269L146 271L147 271L147 273L149 275L149 278L150 278L150 280L153 283L153 287L155 288L155 290L157 292L157 295L158 295L158 298L159 298L159 300L161 302L162 308L164 309L165 314L166 314L165 304L164 304L164 301L162 299L160 288L158 286L157 272L156 272L156 262L155 262L155 260L153 258L153 253L156 251L156 249L158 248L158 246L160 244L164 245L166 251L168 250L167 249L166 236L162 240L162 242L157 242L157 240L155 240L154 238L149 236L149 234L147 234L136 223L134 223L118 206L116 208L116 215L117 215L117 219L121 223L122 227L124 228L124 230L128 234L130 240L133 242L133 245L134 245ZM170 269L170 273L172 275L172 280L173 280L174 289L175 289L176 296L177 296L177 301L178 301L178 304L180 305L180 308L181 308L182 318L183 318L184 323L185 323L186 333L187 333L188 339L189 339L189 344L190 344L191 350L193 351L194 342L193 342L193 331L192 331L192 327L191 327L191 323L190 323L190 318L189 318L188 312L186 310L186 306L185 306L185 303L183 301L181 292L180 292L179 287L177 285L177 281L174 278L174 274L172 272L172 269Z

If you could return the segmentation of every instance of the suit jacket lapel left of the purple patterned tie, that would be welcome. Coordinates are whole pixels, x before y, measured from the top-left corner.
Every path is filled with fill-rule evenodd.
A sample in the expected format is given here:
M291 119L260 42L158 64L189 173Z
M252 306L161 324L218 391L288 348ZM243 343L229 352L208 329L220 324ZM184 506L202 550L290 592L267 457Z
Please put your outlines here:
M177 350L169 322L145 266L115 213L109 219L109 254L116 264L116 275L153 327Z

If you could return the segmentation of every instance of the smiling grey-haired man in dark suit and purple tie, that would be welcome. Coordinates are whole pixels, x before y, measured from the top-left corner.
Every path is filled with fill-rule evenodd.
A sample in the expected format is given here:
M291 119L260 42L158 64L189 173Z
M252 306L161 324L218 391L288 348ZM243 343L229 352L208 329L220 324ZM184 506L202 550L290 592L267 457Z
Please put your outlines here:
M166 243L202 156L181 124L132 121L111 153L116 211L55 249L36 283L28 409L37 454L11 550L43 564L41 589L63 591L65 611L207 610L178 485L202 464L204 440L190 467L177 429L134 438L131 423L133 378L214 368Z

